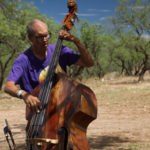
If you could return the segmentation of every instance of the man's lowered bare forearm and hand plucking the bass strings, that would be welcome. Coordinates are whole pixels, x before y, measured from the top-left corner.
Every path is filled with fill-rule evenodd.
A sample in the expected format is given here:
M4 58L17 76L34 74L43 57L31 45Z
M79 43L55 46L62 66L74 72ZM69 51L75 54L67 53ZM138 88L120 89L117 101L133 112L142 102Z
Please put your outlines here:
M19 88L15 85L13 81L7 81L5 84L4 91L11 96L17 97L17 93L19 92ZM40 100L29 94L28 92L24 91L21 93L20 98L24 100L26 105L34 112L39 112L41 109Z

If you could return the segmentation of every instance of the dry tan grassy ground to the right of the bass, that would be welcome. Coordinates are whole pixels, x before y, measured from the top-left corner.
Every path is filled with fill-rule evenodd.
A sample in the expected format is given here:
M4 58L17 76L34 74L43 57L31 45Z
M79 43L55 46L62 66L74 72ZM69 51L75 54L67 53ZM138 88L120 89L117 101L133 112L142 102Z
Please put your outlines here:
M102 82L103 81L103 82ZM150 149L150 82L135 77L84 81L95 92L98 117L88 128L94 149Z

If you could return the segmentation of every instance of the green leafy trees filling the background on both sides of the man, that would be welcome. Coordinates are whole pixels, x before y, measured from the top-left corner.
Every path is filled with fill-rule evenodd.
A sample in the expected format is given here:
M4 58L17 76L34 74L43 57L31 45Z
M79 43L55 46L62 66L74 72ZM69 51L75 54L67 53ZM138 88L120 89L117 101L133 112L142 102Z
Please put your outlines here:
M149 0L122 0L118 1L115 16L109 18L113 26L81 22L71 32L80 38L95 64L91 68L69 67L68 74L82 79L118 71L141 77L150 70L149 12ZM35 18L48 24L49 42L55 44L61 25L42 15L26 0L0 0L0 89L14 59L30 46L26 25ZM63 44L78 53L73 43Z

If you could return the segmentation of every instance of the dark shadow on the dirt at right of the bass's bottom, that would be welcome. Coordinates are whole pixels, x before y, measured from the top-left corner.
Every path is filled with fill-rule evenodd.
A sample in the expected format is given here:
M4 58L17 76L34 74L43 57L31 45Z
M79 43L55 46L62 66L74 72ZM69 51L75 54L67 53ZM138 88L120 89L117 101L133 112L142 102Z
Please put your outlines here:
M117 136L96 136L89 137L88 142L90 147L93 149L105 149L116 145L121 145L122 143L131 142L131 140Z

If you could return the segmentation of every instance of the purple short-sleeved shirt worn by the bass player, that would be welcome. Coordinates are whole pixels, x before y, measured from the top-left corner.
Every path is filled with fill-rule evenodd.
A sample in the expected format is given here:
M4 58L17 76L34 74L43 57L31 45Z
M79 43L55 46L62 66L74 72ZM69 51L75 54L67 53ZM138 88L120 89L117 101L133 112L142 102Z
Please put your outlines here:
M21 89L32 93L32 90L39 84L41 71L49 65L54 49L55 44L49 44L47 57L44 60L34 56L30 48L27 49L14 62L8 81L13 81L15 84L19 84ZM66 71L66 66L76 63L79 57L80 55L63 46L60 52L59 64Z

